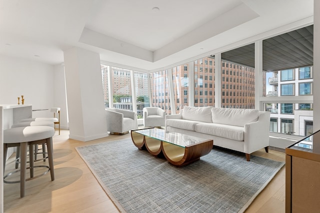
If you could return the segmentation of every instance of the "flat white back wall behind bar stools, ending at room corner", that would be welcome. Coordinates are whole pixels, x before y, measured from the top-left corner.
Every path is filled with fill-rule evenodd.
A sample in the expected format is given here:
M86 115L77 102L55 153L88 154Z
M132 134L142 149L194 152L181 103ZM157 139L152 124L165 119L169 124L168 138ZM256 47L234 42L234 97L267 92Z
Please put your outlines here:
M31 60L0 56L0 104L17 104L24 96L32 109L53 106L53 66ZM21 104L21 98L20 98ZM32 112L32 117L49 117L49 110Z

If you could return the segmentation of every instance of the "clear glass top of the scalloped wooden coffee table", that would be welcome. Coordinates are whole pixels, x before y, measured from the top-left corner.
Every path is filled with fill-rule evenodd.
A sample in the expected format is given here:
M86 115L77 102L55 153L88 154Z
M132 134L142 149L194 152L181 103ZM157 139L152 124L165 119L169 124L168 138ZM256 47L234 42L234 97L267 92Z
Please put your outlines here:
M176 132L165 133L165 130L158 128L132 130L132 132L139 133L141 135L145 135L147 137L174 144L180 147L186 147L206 141L206 139L203 138L184 135Z

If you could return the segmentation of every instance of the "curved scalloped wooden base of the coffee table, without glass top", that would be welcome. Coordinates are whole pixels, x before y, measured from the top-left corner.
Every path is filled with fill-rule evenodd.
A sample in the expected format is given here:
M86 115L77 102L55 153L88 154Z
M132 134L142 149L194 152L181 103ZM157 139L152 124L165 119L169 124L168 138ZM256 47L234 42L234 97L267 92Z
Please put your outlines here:
M157 156L161 152L166 160L175 166L184 166L207 155L213 146L213 140L203 141L198 144L181 147L168 142L150 138L131 131L134 146L138 149L146 149L151 155Z

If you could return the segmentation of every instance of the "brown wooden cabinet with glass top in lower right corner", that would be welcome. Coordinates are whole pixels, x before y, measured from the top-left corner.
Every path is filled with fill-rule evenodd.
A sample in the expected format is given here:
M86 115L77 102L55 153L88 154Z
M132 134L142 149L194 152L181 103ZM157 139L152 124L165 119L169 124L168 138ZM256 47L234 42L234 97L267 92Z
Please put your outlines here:
M285 149L285 212L320 210L320 131Z

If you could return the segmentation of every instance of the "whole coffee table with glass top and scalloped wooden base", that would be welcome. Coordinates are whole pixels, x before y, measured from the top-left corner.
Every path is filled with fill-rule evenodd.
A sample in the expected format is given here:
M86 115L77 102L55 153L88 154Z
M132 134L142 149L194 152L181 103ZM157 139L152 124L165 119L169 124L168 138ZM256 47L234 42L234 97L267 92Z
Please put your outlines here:
M206 140L180 133L166 133L163 129L145 128L131 130L133 144L146 149L151 155L161 152L175 166L184 166L200 159L212 150L213 140Z

